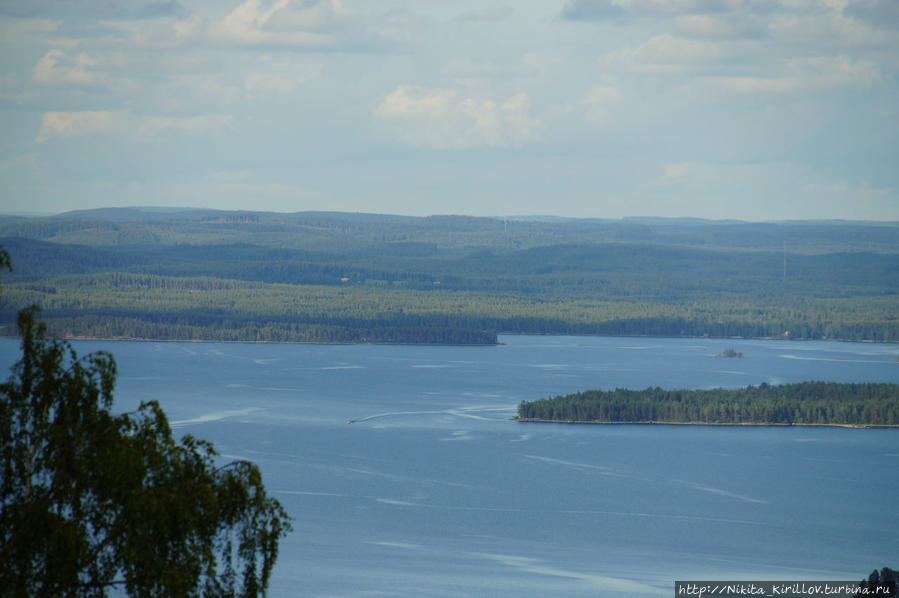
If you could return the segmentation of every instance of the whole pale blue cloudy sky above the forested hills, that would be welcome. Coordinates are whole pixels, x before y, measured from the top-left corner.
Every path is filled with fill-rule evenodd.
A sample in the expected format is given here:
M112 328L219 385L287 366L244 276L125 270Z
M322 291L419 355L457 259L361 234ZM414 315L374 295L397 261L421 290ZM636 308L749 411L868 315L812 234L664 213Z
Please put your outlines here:
M899 221L896 0L0 0L0 211Z

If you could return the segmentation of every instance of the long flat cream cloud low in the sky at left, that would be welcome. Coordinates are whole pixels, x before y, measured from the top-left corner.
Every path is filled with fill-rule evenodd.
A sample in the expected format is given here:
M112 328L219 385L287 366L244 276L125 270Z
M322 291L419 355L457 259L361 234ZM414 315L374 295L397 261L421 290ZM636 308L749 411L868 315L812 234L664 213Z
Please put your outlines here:
M54 138L80 137L97 134L121 134L132 137L152 137L163 130L198 133L227 127L232 117L200 115L189 117L142 116L125 111L46 112L36 143Z

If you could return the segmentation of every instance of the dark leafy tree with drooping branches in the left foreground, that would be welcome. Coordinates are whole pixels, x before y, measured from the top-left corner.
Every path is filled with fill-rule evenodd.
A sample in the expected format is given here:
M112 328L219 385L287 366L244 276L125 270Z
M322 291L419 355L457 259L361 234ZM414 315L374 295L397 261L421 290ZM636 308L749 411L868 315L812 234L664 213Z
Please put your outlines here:
M3 594L264 595L290 518L258 468L176 441L156 402L112 413L112 356L79 359L36 311L0 386Z

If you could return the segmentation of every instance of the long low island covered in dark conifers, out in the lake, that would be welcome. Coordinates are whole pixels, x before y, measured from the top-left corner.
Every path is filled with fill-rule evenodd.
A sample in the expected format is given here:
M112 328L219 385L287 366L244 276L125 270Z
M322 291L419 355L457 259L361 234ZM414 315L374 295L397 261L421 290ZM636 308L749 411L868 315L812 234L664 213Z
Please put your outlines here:
M800 382L711 390L588 390L524 401L519 421L899 426L899 385Z

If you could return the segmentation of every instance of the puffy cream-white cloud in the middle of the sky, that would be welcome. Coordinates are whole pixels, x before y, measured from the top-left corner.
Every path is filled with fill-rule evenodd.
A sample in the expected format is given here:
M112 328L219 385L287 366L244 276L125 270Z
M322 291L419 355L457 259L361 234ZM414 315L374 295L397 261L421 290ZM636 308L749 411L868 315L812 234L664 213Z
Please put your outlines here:
M539 127L525 93L496 102L453 89L401 85L376 114L399 123L399 135L407 143L433 149L516 146L535 139Z

